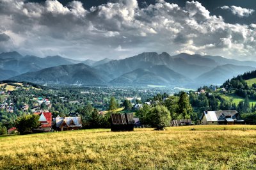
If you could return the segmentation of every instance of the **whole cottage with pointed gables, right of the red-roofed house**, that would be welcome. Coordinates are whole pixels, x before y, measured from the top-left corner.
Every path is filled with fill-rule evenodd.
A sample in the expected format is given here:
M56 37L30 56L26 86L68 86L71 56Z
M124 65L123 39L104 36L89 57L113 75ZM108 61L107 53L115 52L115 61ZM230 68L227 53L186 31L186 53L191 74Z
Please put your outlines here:
M82 128L82 119L81 117L60 117L57 116L54 118L54 129L63 131L63 130L78 130Z

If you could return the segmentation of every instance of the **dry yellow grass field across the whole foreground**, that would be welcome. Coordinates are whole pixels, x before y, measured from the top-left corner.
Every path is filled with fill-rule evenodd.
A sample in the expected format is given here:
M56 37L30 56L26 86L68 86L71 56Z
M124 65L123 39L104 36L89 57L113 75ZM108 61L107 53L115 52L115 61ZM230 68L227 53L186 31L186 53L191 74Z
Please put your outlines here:
M13 135L0 146L0 169L256 169L250 125Z

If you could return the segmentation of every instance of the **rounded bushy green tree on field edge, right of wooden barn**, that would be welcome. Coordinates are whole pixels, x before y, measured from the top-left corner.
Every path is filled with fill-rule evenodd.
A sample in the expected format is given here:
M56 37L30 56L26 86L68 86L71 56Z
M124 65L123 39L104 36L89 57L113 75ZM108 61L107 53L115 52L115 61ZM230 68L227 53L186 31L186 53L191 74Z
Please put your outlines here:
M156 130L164 130L170 126L171 116L168 109L163 105L156 105L148 112L149 123Z

